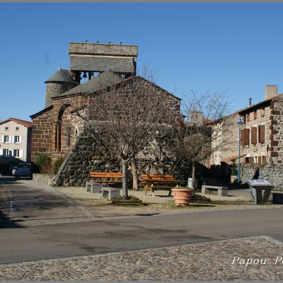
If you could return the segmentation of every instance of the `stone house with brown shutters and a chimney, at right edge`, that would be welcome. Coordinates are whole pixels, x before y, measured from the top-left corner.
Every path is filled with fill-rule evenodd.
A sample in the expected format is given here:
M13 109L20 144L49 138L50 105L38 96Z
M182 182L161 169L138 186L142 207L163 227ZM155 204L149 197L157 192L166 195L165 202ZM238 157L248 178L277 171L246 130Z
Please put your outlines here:
M243 120L243 163L281 164L283 158L283 96L265 86L265 100L238 112Z

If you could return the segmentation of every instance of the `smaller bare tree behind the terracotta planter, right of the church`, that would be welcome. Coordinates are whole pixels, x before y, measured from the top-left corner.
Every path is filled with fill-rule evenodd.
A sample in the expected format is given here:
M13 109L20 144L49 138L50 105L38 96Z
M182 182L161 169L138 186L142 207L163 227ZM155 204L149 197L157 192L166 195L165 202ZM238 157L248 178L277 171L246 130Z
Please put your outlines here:
M197 163L204 163L212 154L228 143L229 123L224 115L229 110L226 96L221 93L205 93L192 96L184 106L185 122L176 125L176 147L180 156L192 163L192 187L196 189Z

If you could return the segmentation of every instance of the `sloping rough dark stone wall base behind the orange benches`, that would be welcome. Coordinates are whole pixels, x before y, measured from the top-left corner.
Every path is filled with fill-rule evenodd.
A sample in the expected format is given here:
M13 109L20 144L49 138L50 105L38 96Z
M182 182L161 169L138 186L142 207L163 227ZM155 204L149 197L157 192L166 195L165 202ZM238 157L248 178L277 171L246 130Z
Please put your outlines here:
M187 180L190 167L174 156L171 141L169 132L160 134L157 141L152 141L137 156L138 173L172 174L175 178ZM93 139L81 134L53 178L52 184L84 186L91 171L122 172L122 166L117 157L108 154L103 146L93 143Z

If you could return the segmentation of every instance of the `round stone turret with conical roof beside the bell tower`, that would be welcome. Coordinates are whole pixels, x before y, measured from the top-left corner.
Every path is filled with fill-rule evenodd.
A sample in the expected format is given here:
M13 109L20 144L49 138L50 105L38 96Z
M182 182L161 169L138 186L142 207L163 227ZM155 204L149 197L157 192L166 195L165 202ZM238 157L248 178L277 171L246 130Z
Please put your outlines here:
M64 70L60 67L45 83L45 108L52 105L52 97L59 96L71 88L78 86L78 83L70 76L69 70Z

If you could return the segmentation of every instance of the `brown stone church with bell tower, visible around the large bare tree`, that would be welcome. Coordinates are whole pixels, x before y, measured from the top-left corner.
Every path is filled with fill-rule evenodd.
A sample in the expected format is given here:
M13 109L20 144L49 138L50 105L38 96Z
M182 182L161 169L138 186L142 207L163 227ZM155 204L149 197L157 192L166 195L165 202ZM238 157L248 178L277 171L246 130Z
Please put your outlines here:
M33 120L31 160L36 161L40 154L47 154L52 162L67 156L82 130L72 115L73 105L88 105L93 93L116 84L119 88L122 81L150 83L156 95L168 100L175 115L180 115L180 98L137 76L137 55L136 45L122 45L122 42L120 45L69 43L69 70L59 68L45 81L45 108L30 116Z

